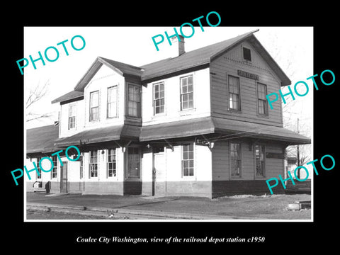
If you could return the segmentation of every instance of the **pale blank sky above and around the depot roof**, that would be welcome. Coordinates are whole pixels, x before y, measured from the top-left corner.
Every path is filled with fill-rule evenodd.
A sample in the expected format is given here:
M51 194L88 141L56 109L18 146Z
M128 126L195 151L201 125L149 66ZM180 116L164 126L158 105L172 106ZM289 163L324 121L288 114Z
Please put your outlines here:
M179 28L176 28L179 31ZM288 75L293 86L297 81L306 81L310 85L307 96L296 97L295 101L285 106L285 126L294 130L297 118L300 123L310 124L312 128L312 94L311 81L306 78L313 73L313 28L312 27L195 27L191 38L186 38L186 52L195 50L215 42L227 40L249 31L254 33L263 47L276 60L283 72ZM60 56L55 62L45 60L35 62L37 69L30 63L24 69L25 101L30 89L48 83L47 94L41 101L35 103L30 111L34 113L52 113L52 118L30 121L26 128L35 128L42 125L52 125L57 120L60 104L52 104L55 98L74 89L81 77L86 74L96 57L106 57L118 62L132 64L137 67L142 64L162 60L170 56L171 48L164 40L159 44L159 51L154 47L152 36L167 31L174 34L174 27L25 27L24 28L24 55L33 60L38 58L38 51L43 55L47 47L57 47ZM185 34L190 34L190 32ZM81 35L86 41L83 50L73 50L70 41L74 35ZM79 38L77 38L79 39ZM69 55L67 56L62 45L65 42ZM81 47L80 40L74 40L76 47ZM53 50L49 50L53 59ZM18 69L18 75L21 75ZM292 87L293 89L293 87ZM26 112L27 113L27 112ZM309 131L310 132L310 131ZM311 136L311 133L309 134Z

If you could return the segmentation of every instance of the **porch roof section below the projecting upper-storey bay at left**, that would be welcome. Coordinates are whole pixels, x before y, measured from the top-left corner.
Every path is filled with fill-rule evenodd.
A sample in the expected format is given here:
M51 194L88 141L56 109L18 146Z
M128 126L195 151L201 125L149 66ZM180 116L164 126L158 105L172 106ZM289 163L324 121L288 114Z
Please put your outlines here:
M55 140L56 147L68 147L70 145L89 145L97 142L109 142L115 140L138 140L140 127L133 125L118 125L105 128L84 130L70 137Z

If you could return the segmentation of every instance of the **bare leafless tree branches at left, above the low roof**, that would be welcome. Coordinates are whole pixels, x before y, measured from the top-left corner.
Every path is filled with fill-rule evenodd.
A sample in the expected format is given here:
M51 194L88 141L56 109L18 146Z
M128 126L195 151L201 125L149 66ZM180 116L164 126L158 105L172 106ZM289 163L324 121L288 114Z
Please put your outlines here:
M47 94L49 84L49 81L47 81L43 86L38 84L38 86L35 86L34 89L29 89L28 98L26 100L26 122L42 118L50 118L52 116L52 113L35 113L33 110L33 106Z

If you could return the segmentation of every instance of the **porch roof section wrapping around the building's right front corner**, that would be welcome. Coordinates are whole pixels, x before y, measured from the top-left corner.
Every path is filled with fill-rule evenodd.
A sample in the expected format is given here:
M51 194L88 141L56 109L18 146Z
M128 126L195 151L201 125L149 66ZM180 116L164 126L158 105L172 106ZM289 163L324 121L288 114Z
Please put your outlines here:
M147 125L142 127L140 141L164 140L213 133L222 135L219 140L252 137L254 139L288 142L290 145L310 144L311 142L310 138L286 128L215 117Z

